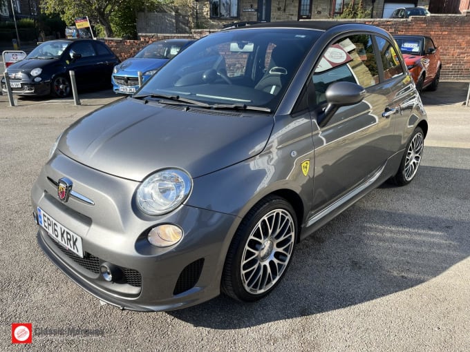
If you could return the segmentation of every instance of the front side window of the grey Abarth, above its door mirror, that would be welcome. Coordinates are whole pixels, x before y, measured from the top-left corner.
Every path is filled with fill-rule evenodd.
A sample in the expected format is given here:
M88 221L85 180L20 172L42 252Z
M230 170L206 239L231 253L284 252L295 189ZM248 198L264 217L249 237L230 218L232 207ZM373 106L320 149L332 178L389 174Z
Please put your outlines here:
M364 88L379 83L370 35L353 35L330 44L312 75L316 103L324 104L326 88L339 81L353 82Z

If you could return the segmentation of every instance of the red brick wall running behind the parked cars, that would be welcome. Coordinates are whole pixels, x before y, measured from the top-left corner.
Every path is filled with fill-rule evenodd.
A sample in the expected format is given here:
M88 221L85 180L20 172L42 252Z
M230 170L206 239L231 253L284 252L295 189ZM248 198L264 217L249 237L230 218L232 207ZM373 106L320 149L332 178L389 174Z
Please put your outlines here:
M351 21L351 20L345 20ZM353 20L388 30L392 35L430 35L440 47L442 80L470 80L470 11L464 14L433 14L411 19ZM105 39L121 60L135 55L147 44L162 39L200 38L217 30L193 30L192 35L140 35L140 40Z

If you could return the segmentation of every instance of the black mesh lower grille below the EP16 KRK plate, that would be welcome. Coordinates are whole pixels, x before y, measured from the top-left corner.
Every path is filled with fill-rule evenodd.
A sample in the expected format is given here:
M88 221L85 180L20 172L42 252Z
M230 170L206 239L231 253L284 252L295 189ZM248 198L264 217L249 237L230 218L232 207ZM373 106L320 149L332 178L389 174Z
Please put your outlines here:
M55 246L59 248L59 250L64 253L67 257L69 257L71 260L73 260L75 263L77 263L79 266L82 266L83 268L86 268L86 270L91 271L92 273L99 274L100 273L100 265L101 262L104 262L103 260L100 260L100 258L95 257L93 254L85 252L83 258L79 257L75 253L68 251L67 248L64 246L60 245L55 239L52 237L49 237L53 240ZM130 268L122 268L122 280L120 280L120 284L129 284L134 287L141 287L142 286L142 276L140 273L134 269Z

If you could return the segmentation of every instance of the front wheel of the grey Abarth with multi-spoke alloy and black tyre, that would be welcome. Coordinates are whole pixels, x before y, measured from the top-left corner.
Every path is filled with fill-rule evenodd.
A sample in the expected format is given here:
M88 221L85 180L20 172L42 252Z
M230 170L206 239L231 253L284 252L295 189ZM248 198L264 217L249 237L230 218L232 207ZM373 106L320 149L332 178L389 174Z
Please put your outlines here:
M285 199L267 197L256 204L230 244L222 291L245 302L270 293L290 264L297 232L297 217Z

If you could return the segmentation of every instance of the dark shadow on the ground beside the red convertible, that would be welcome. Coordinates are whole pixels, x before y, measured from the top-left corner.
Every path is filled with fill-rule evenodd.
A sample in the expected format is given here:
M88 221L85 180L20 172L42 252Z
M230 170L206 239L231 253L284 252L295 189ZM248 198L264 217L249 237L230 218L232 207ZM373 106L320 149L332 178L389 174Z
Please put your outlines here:
M429 106L446 104L463 104L467 99L469 82L440 81L438 90L423 90L421 100L423 104Z

